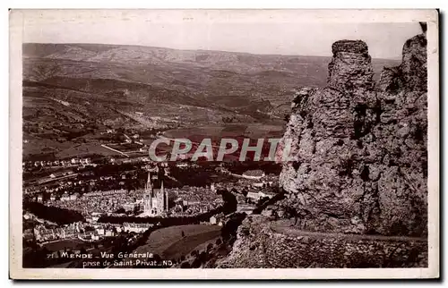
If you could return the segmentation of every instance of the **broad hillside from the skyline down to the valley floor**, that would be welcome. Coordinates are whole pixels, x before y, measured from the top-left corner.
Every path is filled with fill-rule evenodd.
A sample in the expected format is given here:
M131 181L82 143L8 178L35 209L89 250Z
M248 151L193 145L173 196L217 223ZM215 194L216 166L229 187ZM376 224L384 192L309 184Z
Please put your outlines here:
M294 91L323 87L331 61L101 44L22 48L25 154L58 152L108 128L282 126ZM395 64L374 59L375 75Z

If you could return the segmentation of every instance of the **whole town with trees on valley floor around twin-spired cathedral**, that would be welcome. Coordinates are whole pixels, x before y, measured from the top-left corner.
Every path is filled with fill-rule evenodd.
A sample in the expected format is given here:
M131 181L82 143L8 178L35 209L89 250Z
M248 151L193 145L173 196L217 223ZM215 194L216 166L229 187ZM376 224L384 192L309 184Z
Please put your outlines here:
M24 162L25 174L33 174L24 177L23 240L28 246L24 258L45 250L59 264L67 249L78 254L104 252L112 249L111 239L122 238L126 247L134 247L144 233L158 227L188 223L222 227L228 219L222 212L227 204L222 191L235 199L233 212L251 214L257 204L275 196L278 186L275 171L266 174L235 165L160 163L148 157ZM194 174L200 178L192 178Z

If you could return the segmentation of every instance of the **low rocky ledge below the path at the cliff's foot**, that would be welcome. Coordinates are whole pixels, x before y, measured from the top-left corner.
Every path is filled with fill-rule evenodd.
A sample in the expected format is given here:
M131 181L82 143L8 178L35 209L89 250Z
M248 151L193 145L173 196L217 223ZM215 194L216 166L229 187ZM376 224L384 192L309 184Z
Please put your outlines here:
M281 231L275 227L283 226ZM281 221L248 217L220 268L427 267L427 243L418 238L306 233Z

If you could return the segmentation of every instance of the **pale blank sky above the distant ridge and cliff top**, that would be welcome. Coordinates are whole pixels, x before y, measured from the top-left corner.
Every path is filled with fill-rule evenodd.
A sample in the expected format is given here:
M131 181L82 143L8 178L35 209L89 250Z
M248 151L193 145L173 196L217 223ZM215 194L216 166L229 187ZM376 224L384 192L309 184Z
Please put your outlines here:
M104 43L205 49L271 55L332 55L332 43L361 39L374 58L401 58L404 42L421 33L418 22L296 21L283 18L235 19L120 14L58 13L25 17L23 42Z

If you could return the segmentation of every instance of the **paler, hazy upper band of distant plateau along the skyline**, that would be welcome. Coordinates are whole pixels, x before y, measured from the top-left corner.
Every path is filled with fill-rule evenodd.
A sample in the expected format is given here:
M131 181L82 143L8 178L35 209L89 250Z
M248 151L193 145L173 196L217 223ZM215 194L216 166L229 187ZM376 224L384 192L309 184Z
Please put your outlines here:
M159 47L99 44L24 44L27 80L52 77L113 79L150 84L205 98L221 105L267 99L272 106L289 102L292 89L323 87L331 57L251 55ZM373 61L379 72L392 60Z

